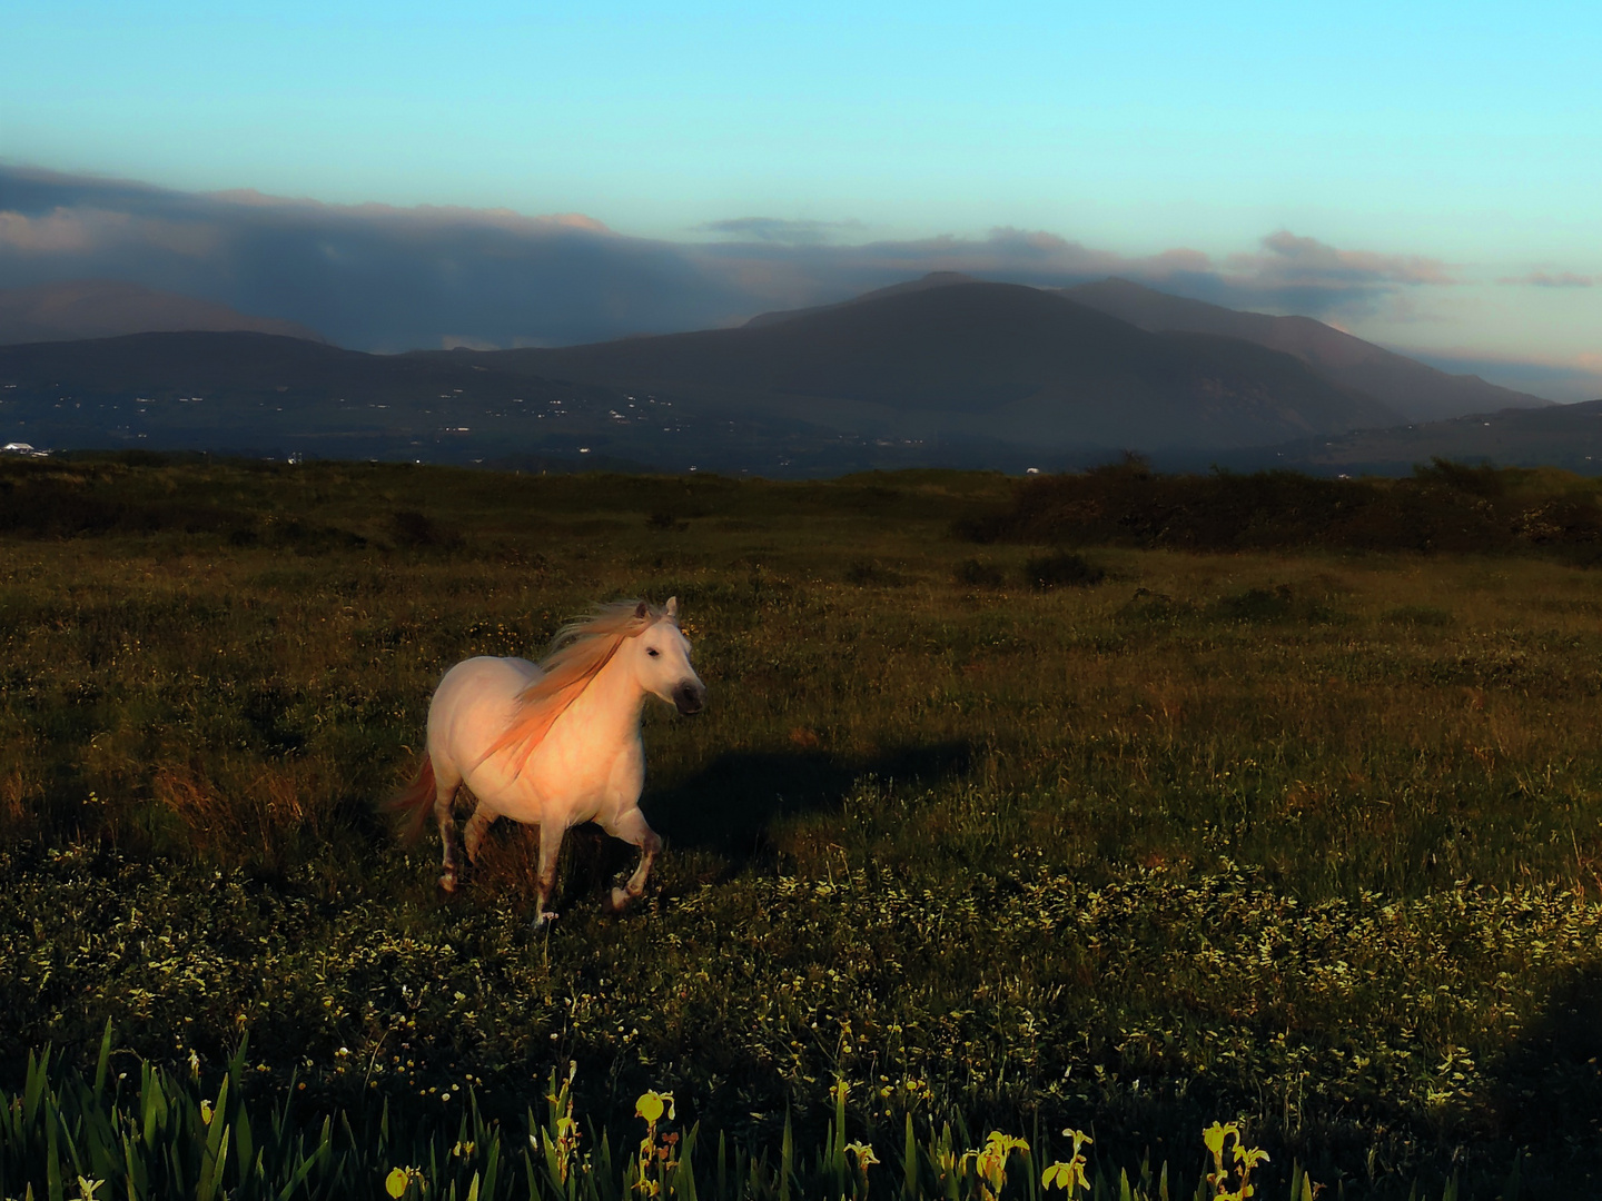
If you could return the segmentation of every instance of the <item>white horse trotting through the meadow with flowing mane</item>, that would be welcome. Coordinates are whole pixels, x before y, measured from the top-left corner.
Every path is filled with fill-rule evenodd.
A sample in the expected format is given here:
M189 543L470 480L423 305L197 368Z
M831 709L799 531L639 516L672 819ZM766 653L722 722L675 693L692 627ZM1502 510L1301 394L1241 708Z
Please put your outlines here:
M469 862L477 863L495 818L540 826L540 921L556 916L546 908L556 855L567 828L582 821L639 847L639 866L612 889L612 908L636 900L662 849L639 812L646 785L639 717L647 695L686 716L706 703L679 629L678 597L663 609L644 600L602 605L564 626L538 665L481 657L447 671L428 706L428 756L412 786L391 801L410 818L413 839L433 809L444 842L441 887L457 889L452 804L466 783L477 797L463 836Z

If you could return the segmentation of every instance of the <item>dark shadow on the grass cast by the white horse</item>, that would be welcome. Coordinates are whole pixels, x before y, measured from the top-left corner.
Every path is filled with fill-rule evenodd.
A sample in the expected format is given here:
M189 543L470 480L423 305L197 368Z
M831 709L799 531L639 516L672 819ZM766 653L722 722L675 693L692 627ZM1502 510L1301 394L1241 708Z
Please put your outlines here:
M777 820L838 812L859 781L934 785L968 775L972 746L896 746L865 757L817 748L726 751L698 772L650 789L641 810L670 846L710 850L737 868L772 855Z

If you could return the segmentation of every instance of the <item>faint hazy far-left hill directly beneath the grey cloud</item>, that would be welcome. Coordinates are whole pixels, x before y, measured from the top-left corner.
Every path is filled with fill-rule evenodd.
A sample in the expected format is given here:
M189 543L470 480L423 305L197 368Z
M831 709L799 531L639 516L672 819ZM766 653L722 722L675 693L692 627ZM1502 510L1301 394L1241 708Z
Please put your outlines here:
M226 304L122 280L0 288L0 346L117 338L128 333L248 330L322 341L295 322L250 317Z

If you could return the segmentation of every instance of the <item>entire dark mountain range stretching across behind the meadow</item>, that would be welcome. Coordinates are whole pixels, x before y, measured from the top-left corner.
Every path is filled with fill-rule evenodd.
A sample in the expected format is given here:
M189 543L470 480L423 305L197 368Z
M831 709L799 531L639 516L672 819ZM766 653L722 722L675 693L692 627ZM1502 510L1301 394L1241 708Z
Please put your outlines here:
M210 331L0 346L0 439L828 474L1062 468L1125 448L1200 463L1298 445L1306 458L1354 431L1549 408L1320 322L1126 280L1041 290L945 274L737 328L397 355L192 304ZM184 320L171 301L151 311Z

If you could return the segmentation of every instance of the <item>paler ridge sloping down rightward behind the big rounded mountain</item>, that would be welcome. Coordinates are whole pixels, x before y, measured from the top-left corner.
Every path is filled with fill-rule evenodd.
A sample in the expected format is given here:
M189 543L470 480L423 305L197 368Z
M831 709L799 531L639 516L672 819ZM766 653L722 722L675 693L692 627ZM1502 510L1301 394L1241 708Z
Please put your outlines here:
M1142 330L1211 333L1294 354L1323 378L1381 400L1408 421L1439 421L1499 408L1546 408L1551 400L1448 375L1334 330L1312 317L1270 317L1184 299L1125 279L1062 288L1062 296Z

